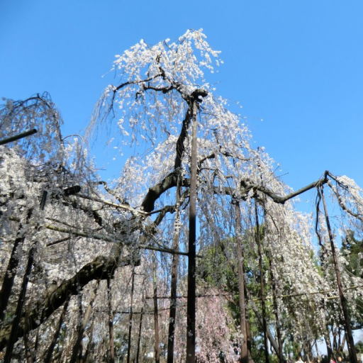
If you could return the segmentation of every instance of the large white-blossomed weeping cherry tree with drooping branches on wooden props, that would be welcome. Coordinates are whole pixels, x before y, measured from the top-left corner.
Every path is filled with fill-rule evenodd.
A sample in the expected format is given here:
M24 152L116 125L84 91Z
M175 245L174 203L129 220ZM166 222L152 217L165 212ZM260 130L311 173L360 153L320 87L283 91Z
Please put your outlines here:
M117 82L84 138L62 136L48 94L1 106L0 140L38 130L0 146L5 359L113 362L172 352L188 362L193 335L199 362L235 362L249 335L263 331L282 360L284 344L301 342L308 355L318 338L330 339L329 329L354 325L362 274L345 268L349 258L335 244L337 233L362 230L362 189L328 171L298 191L284 184L216 95L210 79L219 54L201 30L175 42L141 40L116 56ZM100 179L89 155L98 135L125 155L113 181ZM294 198L312 189L314 214L296 211ZM334 229L325 190L340 211ZM186 331L192 202L196 316L195 331ZM239 313L247 306L245 318L231 304ZM241 333L242 319L263 328Z

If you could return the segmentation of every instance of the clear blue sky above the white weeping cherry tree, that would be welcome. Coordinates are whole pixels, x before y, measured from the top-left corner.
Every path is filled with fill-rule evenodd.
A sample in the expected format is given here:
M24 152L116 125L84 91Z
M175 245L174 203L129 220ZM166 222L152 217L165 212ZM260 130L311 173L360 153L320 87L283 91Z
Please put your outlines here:
M114 55L203 28L225 62L218 94L240 101L289 185L329 169L363 186L362 19L362 0L1 0L0 96L48 91L75 133Z

